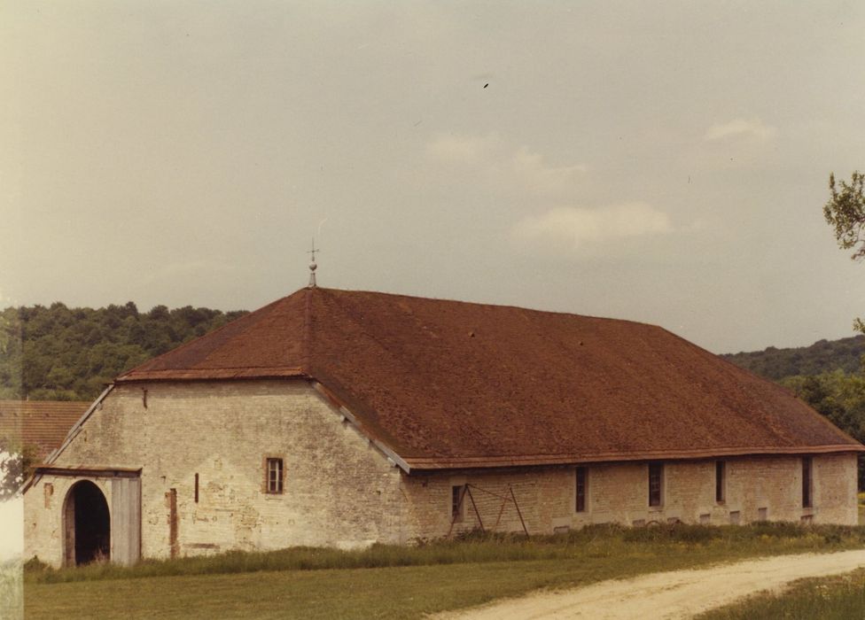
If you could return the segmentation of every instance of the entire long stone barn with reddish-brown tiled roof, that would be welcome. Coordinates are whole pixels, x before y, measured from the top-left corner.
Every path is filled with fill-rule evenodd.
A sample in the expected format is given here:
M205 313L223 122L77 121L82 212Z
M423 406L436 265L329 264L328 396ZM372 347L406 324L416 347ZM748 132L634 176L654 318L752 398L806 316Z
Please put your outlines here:
M27 484L26 554L852 524L863 450L666 329L311 287L117 377Z

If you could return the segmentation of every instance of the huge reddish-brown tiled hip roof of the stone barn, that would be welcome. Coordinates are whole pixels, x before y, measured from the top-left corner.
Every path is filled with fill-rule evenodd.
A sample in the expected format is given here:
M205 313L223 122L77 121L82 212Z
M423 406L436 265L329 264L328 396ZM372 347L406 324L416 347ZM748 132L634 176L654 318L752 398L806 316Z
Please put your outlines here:
M118 382L297 377L412 469L865 450L659 327L304 289Z

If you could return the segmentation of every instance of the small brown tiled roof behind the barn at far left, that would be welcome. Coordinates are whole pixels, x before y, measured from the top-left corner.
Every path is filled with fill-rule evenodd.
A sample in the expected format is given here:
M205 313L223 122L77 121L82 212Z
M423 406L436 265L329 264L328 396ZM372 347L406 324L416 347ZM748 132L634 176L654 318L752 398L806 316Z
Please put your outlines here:
M90 402L77 400L0 400L0 440L35 446L43 460L88 407Z

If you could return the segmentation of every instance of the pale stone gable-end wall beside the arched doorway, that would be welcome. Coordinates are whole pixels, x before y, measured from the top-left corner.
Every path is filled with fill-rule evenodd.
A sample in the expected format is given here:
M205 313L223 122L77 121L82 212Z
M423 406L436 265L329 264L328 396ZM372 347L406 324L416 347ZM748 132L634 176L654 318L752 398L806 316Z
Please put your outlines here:
M267 457L284 459L281 494L264 492ZM121 384L54 464L142 469L144 557L171 554L171 489L181 555L404 539L399 471L306 382ZM73 482L44 476L27 491L28 557L61 562Z

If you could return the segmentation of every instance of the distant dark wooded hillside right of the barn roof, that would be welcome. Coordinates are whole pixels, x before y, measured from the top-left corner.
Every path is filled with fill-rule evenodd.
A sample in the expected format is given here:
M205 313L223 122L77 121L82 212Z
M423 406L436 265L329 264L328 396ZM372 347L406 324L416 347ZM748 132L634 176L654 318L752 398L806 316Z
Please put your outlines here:
M780 381L788 376L821 375L835 370L857 372L861 368L863 354L865 336L853 336L840 340L818 340L814 345L790 349L769 346L763 351L728 353L721 357L755 375Z

